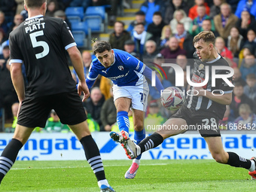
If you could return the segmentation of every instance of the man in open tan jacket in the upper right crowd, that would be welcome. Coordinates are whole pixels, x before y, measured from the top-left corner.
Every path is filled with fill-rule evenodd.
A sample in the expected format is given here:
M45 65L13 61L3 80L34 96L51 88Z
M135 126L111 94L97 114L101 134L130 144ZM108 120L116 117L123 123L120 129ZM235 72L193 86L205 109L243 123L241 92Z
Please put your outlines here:
M221 14L214 17L215 29L222 38L227 39L230 35L230 29L236 25L238 18L231 13L230 5L224 3L221 5Z

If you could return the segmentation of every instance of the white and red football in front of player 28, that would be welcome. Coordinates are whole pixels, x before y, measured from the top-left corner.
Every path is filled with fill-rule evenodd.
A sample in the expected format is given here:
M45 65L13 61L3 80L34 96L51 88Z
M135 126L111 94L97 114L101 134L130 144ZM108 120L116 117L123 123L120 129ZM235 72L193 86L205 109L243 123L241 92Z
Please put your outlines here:
M161 103L164 108L177 110L184 103L184 92L178 87L167 87L161 92Z

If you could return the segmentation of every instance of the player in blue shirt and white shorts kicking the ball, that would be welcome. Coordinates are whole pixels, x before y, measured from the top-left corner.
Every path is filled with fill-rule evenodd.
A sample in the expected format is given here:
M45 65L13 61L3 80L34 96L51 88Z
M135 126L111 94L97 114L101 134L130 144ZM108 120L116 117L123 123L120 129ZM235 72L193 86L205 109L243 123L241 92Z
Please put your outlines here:
M98 75L111 79L113 82L114 105L117 108L117 124L119 133L111 132L115 142L126 142L129 133L130 121L128 111L133 109L134 140L136 143L145 139L144 117L148 102L148 83L151 80L151 69L136 57L123 50L112 49L107 41L96 41L93 46L96 59L90 66L87 76L87 86L90 88ZM157 90L163 90L163 85L156 75ZM129 135L129 134L128 134ZM139 169L141 156L133 160L132 166L125 174L125 178L134 178Z

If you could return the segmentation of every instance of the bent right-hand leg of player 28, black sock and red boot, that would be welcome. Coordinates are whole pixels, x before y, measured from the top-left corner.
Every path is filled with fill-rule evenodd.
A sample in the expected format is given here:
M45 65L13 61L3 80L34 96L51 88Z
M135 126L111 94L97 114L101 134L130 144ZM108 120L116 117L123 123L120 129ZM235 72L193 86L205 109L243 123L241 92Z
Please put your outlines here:
M212 157L218 162L218 163L224 163L228 164L230 166L235 167L243 167L245 169L248 169L249 175L251 175L251 178L256 178L256 171L255 171L255 164L256 159L251 158L251 160L245 159L244 157L239 157L236 153L233 152L226 152L224 151L221 137L204 137L204 139L207 142L209 151L212 154Z

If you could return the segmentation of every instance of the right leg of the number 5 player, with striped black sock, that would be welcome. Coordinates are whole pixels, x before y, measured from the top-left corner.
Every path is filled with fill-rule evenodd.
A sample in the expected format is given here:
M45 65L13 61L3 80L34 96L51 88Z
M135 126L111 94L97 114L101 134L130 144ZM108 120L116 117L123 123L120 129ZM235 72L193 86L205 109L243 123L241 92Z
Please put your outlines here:
M99 148L93 137L90 135L87 121L78 123L76 125L69 125L75 136L81 142L84 147L84 153L87 158L90 167L93 169L94 174L98 180L98 185L101 191L114 191L114 189L108 184L105 178L105 171L102 163L102 158L99 154Z

